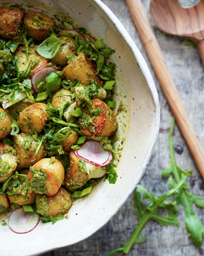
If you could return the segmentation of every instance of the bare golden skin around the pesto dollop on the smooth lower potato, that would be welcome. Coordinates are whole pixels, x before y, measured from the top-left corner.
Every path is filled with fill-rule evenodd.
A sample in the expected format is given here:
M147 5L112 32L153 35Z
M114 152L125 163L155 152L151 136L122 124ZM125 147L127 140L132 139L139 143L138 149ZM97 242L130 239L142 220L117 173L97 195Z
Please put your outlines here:
M65 171L62 163L55 159L54 163L50 163L50 158L43 158L33 165L35 170L43 169L47 174L47 180L45 181L45 187L47 190L46 196L54 196L65 177ZM56 178L57 177L57 178ZM30 181L32 174L29 171L27 179ZM57 180L56 180L57 179Z

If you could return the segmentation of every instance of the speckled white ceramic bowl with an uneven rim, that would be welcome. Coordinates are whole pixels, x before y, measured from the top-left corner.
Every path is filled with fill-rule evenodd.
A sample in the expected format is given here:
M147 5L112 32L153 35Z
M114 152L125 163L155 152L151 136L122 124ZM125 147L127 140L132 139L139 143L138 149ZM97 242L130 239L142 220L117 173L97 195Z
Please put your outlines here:
M2 0L5 2L8 5L16 3ZM22 3L31 2L23 0ZM4 256L38 255L77 243L103 227L141 179L159 131L159 100L150 71L133 40L110 9L99 0L35 0L32 4L48 15L68 13L79 26L97 38L104 38L107 45L116 50L111 56L117 64L116 109L122 101L127 110L118 116L119 144L125 140L115 185L101 182L89 196L74 203L69 219L54 225L41 223L26 234L13 233L8 226L0 227L0 254ZM7 221L4 215L1 219Z

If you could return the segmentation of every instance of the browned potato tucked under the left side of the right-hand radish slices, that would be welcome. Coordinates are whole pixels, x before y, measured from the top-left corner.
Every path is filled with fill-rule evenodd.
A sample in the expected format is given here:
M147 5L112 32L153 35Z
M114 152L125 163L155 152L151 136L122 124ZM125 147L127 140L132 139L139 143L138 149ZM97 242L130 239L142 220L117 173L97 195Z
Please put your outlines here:
M83 173L79 170L78 162L80 158L75 156L73 149L70 150L69 158L70 168L64 182L67 189L69 189L70 191L74 191L78 188L83 187L83 185L86 184L86 182L88 181L88 177L86 173Z

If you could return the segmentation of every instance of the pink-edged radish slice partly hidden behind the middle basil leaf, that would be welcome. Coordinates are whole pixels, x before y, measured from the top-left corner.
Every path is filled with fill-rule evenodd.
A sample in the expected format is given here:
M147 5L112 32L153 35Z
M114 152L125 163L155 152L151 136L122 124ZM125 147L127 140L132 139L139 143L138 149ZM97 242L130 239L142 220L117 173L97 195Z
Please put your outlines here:
M35 72L33 74L32 78L31 78L31 84L32 84L34 92L36 92L36 93L41 92L41 89L37 88L37 85L40 82L46 82L45 78L47 76L49 76L49 74L51 74L54 71L58 71L58 69L53 68L53 67L45 67L45 68L38 70L37 72Z

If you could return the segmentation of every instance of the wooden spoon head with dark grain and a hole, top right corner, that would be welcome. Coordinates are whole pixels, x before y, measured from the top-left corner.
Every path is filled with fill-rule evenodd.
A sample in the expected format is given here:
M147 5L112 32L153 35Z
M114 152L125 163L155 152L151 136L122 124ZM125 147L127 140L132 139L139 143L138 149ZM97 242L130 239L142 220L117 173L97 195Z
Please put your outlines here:
M159 29L195 42L204 66L204 1L183 8L178 0L151 0L149 11Z

